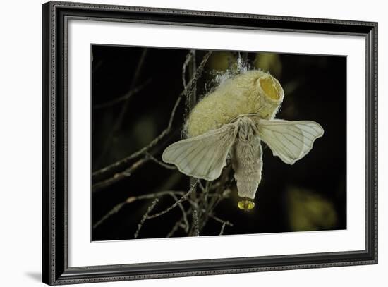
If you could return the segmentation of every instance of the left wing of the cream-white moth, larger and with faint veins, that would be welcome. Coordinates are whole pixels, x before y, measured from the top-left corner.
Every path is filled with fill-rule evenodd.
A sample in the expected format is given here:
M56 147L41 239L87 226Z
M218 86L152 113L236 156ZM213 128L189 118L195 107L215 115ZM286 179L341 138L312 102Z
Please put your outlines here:
M174 142L162 154L164 162L175 164L181 173L212 181L221 175L226 157L236 138L234 124L193 138Z

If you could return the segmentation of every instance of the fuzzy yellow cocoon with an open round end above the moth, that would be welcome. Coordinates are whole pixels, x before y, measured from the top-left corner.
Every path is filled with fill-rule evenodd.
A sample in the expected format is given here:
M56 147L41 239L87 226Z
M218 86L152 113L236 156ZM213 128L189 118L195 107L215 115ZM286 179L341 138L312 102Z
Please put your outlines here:
M283 88L272 75L247 71L225 80L195 105L186 122L186 133L189 138L202 135L243 114L272 119L283 98Z

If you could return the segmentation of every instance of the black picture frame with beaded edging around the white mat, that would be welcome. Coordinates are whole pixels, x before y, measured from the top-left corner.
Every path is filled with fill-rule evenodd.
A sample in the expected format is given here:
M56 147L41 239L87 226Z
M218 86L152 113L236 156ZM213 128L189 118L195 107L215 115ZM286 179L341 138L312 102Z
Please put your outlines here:
M49 285L377 264L377 23L51 1L42 6L42 281ZM68 267L67 50L71 18L358 35L366 40L366 248L144 264Z

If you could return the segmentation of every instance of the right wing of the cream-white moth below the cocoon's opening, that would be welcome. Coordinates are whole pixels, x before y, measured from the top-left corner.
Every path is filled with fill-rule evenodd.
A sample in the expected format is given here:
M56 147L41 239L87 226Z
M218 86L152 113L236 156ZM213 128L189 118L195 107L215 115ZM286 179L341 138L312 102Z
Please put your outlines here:
M286 164L294 164L313 148L324 130L315 121L257 121L260 138Z

